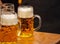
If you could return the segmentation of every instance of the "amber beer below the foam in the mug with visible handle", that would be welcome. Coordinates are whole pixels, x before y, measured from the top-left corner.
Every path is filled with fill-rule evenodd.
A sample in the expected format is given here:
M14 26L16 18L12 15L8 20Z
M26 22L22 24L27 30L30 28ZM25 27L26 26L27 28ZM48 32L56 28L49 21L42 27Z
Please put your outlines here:
M32 18L19 18L21 23L21 35L22 37L29 37L33 33L33 17Z

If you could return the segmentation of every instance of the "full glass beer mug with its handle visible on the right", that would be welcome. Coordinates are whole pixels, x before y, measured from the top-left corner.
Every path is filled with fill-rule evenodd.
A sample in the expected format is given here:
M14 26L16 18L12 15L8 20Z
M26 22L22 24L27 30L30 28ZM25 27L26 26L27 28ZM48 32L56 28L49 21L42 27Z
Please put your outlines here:
M39 25L34 29L34 18L39 19ZM20 23L20 37L31 37L34 30L40 29L41 17L33 14L32 6L20 6L18 7L18 18Z

